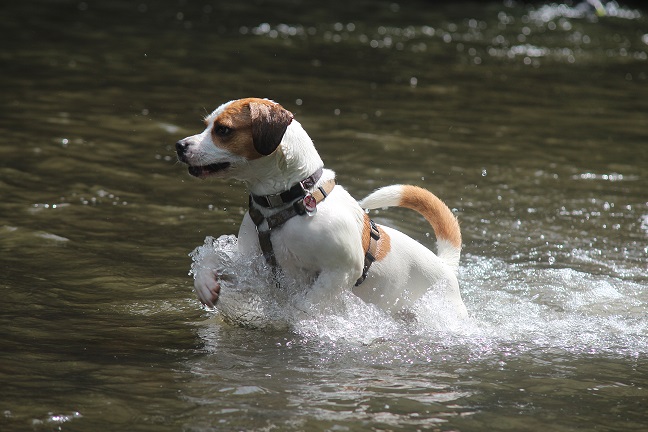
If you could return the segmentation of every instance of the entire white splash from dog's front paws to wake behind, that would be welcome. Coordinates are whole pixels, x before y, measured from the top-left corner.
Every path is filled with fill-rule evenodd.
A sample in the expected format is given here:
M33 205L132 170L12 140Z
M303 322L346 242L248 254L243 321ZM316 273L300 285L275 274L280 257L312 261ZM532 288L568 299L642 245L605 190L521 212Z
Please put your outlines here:
M262 258L240 257L236 250L235 236L207 237L191 254L191 274L209 265L223 275L218 314L236 325L322 342L461 346L480 356L546 348L648 353L648 294L635 282L469 256L460 271L468 320L450 318L427 296L398 316L350 292L305 310L304 281L284 277L276 287Z

